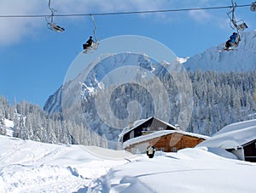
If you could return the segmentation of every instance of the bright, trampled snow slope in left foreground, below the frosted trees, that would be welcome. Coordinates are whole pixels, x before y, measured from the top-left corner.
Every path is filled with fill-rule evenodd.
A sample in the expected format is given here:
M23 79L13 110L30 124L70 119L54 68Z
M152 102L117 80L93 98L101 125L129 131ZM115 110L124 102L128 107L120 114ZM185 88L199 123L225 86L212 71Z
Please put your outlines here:
M122 150L100 154L102 150L93 146L49 145L2 135L0 146L0 192L84 190L92 179L131 156Z

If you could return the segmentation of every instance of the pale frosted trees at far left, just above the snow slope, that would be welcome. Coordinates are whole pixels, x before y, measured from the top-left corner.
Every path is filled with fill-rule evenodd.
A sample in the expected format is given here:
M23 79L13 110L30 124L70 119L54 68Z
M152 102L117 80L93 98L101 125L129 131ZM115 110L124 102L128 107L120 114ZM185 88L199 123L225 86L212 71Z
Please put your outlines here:
M44 143L99 145L108 147L106 138L86 129L83 124L63 120L60 113L48 115L38 105L26 101L13 106L0 96L0 134L6 134L4 119L15 123L13 136L20 139L32 139ZM71 133L70 131L75 131Z

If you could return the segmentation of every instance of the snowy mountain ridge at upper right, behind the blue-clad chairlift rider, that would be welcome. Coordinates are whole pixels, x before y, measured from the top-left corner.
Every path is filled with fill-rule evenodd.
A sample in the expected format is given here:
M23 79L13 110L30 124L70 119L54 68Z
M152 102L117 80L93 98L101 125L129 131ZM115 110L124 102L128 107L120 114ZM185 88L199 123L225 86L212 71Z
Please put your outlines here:
M242 33L235 51L218 52L224 43L208 48L183 63L191 71L256 71L256 30Z

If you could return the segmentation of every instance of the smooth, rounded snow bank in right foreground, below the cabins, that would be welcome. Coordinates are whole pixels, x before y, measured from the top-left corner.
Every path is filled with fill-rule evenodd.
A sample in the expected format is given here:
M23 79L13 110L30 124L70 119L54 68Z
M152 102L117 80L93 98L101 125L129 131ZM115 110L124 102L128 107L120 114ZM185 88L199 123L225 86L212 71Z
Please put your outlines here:
M114 167L89 192L254 192L252 171L253 163L185 149Z

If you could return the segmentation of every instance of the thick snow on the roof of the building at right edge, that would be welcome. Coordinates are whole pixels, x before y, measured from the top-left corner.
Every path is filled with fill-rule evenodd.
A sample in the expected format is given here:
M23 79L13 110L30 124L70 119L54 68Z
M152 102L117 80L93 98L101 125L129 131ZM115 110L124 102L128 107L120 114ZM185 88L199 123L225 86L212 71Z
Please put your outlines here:
M236 149L256 139L256 119L230 124L197 146Z

